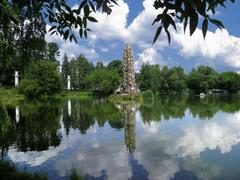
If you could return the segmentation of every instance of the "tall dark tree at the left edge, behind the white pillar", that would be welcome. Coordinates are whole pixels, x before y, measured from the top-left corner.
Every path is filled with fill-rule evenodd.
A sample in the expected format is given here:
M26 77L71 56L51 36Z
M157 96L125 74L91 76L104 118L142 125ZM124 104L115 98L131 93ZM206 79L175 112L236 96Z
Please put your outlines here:
M3 0L0 2L0 81L4 85L13 85L13 73L24 69L33 60L43 59L46 52L46 24L38 16L36 9L26 10L23 1ZM8 22L6 12L11 13L18 23Z

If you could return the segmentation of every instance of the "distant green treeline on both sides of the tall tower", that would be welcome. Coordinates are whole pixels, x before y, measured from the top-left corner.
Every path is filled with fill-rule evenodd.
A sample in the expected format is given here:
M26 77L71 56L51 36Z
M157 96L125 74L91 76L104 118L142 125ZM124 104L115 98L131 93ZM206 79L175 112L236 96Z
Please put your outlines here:
M84 56L70 61L65 55L62 65L63 86L67 87L67 75L71 76L73 89L99 90L112 92L121 83L123 76L122 62L113 60L107 66L98 62L95 66ZM240 75L236 72L218 73L212 67L199 66L190 73L182 67L168 68L159 65L143 64L136 81L141 91L153 92L206 92L220 89L230 93L240 90Z

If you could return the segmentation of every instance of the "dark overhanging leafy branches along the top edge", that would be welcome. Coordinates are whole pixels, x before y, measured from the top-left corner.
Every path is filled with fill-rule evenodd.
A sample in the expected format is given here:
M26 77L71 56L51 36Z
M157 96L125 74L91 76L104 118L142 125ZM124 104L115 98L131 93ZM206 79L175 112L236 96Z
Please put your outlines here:
M235 0L155 0L153 6L155 9L159 9L159 14L153 20L153 24L158 23L153 42L157 40L162 29L167 33L170 42L169 28L172 26L174 29L177 29L177 22L183 24L184 29L189 24L190 35L192 35L199 22L201 22L199 19L203 19L202 32L204 37L206 36L209 22L220 29L223 28L222 22L213 17L216 15L216 11L220 7L225 7L228 2L234 3ZM2 17L0 21L3 22L5 30L9 28L8 25L10 23L18 23L14 11L16 4L24 7L26 14L33 11L34 14L51 23L50 32L52 34L57 33L64 39L77 41L73 28L79 28L80 37L87 37L88 31L90 31L88 22L97 22L93 17L93 13L102 11L103 13L111 14L111 7L113 4L117 4L117 0L82 0L75 9L72 9L63 0L3 0L0 6L0 17ZM209 14L213 15L210 16Z

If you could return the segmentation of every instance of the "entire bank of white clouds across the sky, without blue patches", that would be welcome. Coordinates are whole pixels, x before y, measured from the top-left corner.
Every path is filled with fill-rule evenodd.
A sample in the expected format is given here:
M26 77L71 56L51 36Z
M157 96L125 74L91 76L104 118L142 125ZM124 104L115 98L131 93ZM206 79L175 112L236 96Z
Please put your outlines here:
M172 48L178 52L179 56L182 56L182 60L187 61L191 58L191 61L195 62L196 65L207 64L239 70L240 38L230 35L227 30L208 31L204 40L199 28L190 37L189 32L185 34L182 26L178 25L177 32L173 29L170 30L172 35L170 46L164 32L152 46L156 30L156 26L152 26L152 21L159 13L159 10L153 7L153 2L154 0L142 1L143 10L130 23L128 23L128 16L131 7L124 0L119 0L119 5L113 6L113 12L110 16L97 12L94 16L98 23L89 24L93 32L89 33L87 42L84 41L81 45L65 42L61 38L49 34L47 34L46 39L57 42L60 46L62 54L58 59L62 59L64 52L66 52L73 57L84 54L90 60L95 61L101 56L101 53L106 54L112 50L119 50L112 47L114 44L130 42L134 47L137 47L135 53L135 68L137 70L145 62L167 65L168 59L172 58L171 54L167 55L168 57L163 57L163 51L167 48ZM101 45L99 48L96 45L98 42L102 42L104 47Z

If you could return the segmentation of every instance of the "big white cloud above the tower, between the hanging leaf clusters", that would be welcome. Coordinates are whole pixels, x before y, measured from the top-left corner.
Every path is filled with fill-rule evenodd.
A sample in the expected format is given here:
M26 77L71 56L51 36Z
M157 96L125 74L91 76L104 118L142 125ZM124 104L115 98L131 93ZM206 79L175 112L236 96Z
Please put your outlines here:
M53 35L50 36L48 33L46 35L46 40L48 42L56 42L60 46L61 56L59 60L63 59L63 54L66 52L70 57L76 57L79 54L84 54L90 60L96 60L99 54L96 52L96 42L97 41L110 41L111 44L115 42L130 42L140 48L140 51L136 56L135 67L139 68L144 62L154 62L159 63L158 60L162 62L162 56L158 51L159 48L166 46L167 43L161 43L157 46L152 46L152 35L155 29L152 28L152 21L157 15L157 11L153 7L153 0L143 1L144 10L133 20L133 22L128 25L128 14L129 6L123 0L118 1L118 6L113 6L113 12L110 16L97 12L95 14L98 23L90 23L90 28L93 32L89 33L88 47L86 43L84 45L79 45L71 43L69 41L64 41L62 38ZM73 7L74 8L74 7ZM47 29L50 27L48 26ZM77 32L77 30L76 30ZM102 47L99 50L103 53L109 52L111 47L109 43L105 43L106 47ZM147 60L143 59L146 56Z

